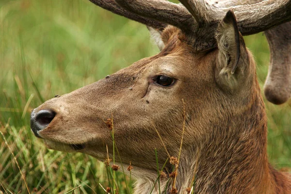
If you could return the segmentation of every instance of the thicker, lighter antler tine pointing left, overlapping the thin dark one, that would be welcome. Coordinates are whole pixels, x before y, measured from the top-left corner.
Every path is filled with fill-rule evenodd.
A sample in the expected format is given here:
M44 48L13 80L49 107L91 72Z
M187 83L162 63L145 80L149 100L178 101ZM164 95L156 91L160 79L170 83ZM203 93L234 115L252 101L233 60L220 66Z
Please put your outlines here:
M115 0L121 7L137 14L178 27L184 32L195 29L195 20L185 7L164 0Z

